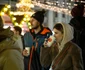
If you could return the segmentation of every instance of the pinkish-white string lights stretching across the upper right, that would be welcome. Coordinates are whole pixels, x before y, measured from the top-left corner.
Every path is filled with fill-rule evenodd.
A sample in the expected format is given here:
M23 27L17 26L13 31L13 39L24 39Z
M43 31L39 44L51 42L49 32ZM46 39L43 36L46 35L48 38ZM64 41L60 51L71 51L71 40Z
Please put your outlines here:
M79 3L82 3L84 4L85 6L85 1L76 1ZM75 3L74 0L71 0L71 2L62 2L62 4L59 3L59 1L56 1L56 2L46 2L46 3L41 3L40 1L36 2L36 1L32 1L32 3L35 5L35 6L39 6L43 9L47 9L47 10L52 10L54 12L65 12L65 14L68 14L68 15L71 15L70 12L71 12L71 9L73 6L76 6L78 4ZM56 3L56 4L55 4Z

